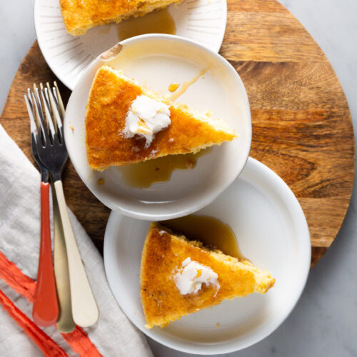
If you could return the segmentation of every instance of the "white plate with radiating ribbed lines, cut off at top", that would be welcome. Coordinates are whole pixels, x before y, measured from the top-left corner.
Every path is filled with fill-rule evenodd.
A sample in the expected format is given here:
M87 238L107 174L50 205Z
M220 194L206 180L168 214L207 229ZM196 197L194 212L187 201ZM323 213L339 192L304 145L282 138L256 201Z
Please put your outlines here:
M218 52L226 29L226 0L186 0L169 6L169 12L177 36ZM42 54L54 74L71 90L91 61L121 40L116 24L98 26L83 36L71 36L64 27L59 0L36 0L34 14Z

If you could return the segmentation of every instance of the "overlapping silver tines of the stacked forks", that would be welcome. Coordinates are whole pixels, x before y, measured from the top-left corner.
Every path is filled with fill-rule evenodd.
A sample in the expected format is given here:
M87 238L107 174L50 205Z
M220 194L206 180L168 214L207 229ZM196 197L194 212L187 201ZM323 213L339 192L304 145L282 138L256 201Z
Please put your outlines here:
M56 82L52 88L49 82L46 83L46 86L40 83L39 87L34 84L34 89L32 91L27 89L27 94L24 97L30 116L31 134L34 139L36 140L36 136L39 136L40 129L41 141L44 146L54 144L55 141L62 143L64 141L62 124L64 104Z

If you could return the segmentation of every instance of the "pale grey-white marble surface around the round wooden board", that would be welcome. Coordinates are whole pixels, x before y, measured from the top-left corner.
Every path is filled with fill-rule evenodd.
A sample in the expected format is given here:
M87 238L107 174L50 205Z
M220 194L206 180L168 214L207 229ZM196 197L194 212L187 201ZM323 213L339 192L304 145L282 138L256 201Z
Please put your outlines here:
M281 3L308 29L331 61L356 128L357 1L281 0ZM36 38L33 4L34 0L1 1L0 111L16 69ZM355 191L338 238L311 271L291 316L265 340L226 356L357 356L356 205ZM150 344L156 356L188 356L154 341Z

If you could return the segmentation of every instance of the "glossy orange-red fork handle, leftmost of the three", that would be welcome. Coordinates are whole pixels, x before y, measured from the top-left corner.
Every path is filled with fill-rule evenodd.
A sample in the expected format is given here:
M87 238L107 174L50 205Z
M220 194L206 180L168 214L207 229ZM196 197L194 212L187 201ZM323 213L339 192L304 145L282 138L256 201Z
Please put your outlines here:
M41 244L32 317L39 326L51 326L58 315L49 225L49 183L41 182Z

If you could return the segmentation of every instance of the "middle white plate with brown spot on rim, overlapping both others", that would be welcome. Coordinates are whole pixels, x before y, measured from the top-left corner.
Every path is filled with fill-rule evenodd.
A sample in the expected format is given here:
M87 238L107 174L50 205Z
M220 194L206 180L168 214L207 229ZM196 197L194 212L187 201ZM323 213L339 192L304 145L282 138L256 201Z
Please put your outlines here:
M200 112L210 109L214 117L236 129L239 138L215 147L198 159L194 169L175 171L170 181L149 188L129 186L116 167L92 171L86 159L84 118L91 83L104 64L96 59L84 71L66 108L64 136L71 161L86 186L114 211L151 220L197 211L234 181L248 159L251 114L243 83L223 57L187 39L150 34L121 44L120 54L108 63L161 94L169 94L169 84L190 80L209 66L204 79L198 79L178 101ZM104 185L98 185L99 178L104 178Z

